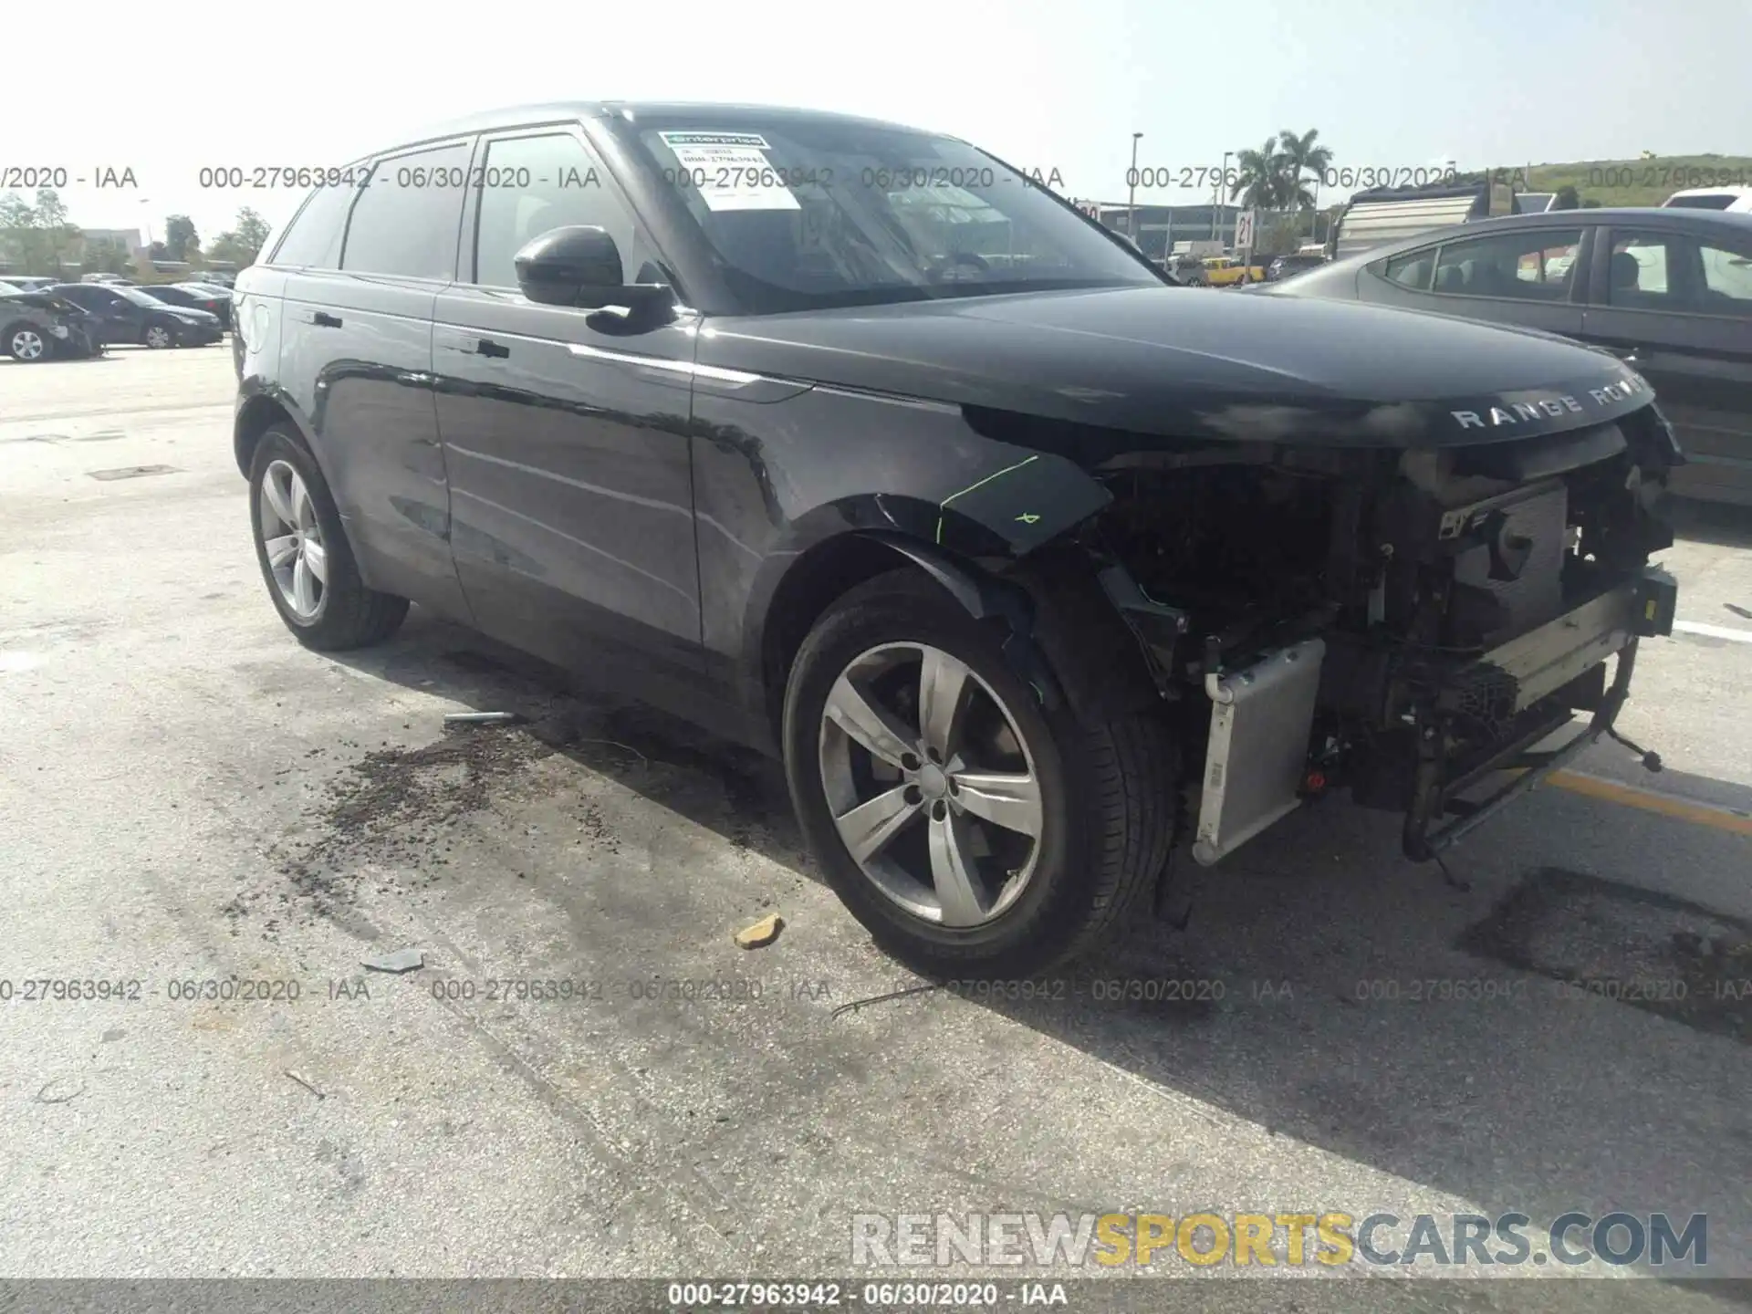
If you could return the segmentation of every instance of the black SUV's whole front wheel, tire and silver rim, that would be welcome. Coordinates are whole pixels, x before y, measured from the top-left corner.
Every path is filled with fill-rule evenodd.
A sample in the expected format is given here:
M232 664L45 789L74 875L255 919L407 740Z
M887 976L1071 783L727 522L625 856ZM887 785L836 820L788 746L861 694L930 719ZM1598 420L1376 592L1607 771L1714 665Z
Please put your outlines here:
M925 976L1025 978L1072 958L1169 857L1165 727L1048 713L999 636L913 571L853 589L815 625L783 743L834 892Z

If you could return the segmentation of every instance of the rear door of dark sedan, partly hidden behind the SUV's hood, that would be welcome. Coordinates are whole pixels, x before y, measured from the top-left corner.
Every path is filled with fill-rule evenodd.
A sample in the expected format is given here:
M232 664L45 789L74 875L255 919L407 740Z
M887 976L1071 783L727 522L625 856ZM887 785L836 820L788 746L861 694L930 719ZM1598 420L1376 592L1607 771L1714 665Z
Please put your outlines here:
M1575 289L1582 244L1582 224L1456 237L1367 265L1358 296L1573 338L1582 331Z

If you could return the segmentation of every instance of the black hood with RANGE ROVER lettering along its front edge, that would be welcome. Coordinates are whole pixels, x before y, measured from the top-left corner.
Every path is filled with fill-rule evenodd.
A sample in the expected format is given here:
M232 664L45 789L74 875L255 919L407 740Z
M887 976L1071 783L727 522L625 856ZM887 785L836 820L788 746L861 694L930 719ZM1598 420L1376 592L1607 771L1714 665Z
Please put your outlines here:
M1463 447L1600 424L1649 384L1533 329L1127 287L713 319L699 363L1162 438Z

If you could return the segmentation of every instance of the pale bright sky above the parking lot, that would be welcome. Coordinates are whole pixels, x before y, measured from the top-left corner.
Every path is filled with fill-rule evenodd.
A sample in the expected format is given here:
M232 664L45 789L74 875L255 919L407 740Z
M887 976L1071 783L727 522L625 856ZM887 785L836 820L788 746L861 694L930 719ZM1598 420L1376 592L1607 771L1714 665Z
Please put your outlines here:
M1318 128L1337 166L1391 170L1752 154L1752 0L300 0L177 9L165 37L89 0L95 40L54 5L11 9L9 49L74 49L5 63L9 103L37 110L0 121L0 189L65 168L86 179L61 189L75 224L158 238L168 214L205 242L244 205L277 223L300 200L203 187L201 168L333 166L547 100L867 114L1106 201L1128 196L1132 133L1139 166L1169 170L1216 170L1284 128ZM137 186L91 186L102 170Z

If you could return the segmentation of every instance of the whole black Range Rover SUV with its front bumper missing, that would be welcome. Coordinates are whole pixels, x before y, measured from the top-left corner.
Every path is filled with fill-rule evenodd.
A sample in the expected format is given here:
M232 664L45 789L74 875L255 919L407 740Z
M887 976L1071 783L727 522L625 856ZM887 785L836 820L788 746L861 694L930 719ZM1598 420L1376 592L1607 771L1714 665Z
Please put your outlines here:
M349 648L412 599L776 752L930 972L1076 953L1183 841L1333 788L1428 858L1671 624L1682 456L1600 352L1186 300L993 156L853 117L548 105L335 179L237 282L286 625Z

